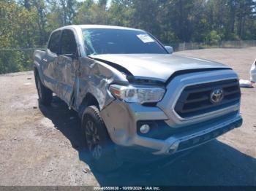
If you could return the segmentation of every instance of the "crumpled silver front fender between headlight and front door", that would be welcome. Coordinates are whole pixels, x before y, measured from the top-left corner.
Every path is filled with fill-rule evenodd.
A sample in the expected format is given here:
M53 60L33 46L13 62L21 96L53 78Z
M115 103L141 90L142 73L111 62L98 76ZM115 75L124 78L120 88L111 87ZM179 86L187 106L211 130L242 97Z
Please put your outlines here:
M94 95L102 110L115 98L108 90L110 84L128 84L128 80L121 71L101 61L94 61L91 58L80 58L78 67L78 80L76 80L75 106L77 109L83 104L83 99L90 93Z

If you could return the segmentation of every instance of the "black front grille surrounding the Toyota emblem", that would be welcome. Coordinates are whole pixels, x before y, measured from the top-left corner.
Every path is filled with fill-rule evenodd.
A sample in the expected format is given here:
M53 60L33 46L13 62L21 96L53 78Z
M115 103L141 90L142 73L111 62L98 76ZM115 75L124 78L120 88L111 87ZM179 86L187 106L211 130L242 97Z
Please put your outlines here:
M217 104L210 100L213 90L223 90L223 99ZM227 79L185 87L175 106L176 113L181 117L194 117L218 109L238 104L241 91L238 79Z

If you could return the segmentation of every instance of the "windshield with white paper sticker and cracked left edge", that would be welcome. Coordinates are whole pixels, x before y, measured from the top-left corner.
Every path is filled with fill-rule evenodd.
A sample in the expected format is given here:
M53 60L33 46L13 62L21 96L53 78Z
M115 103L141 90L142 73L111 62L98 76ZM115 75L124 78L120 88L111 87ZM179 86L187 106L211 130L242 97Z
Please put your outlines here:
M144 31L112 28L83 29L87 55L167 54L154 37Z

